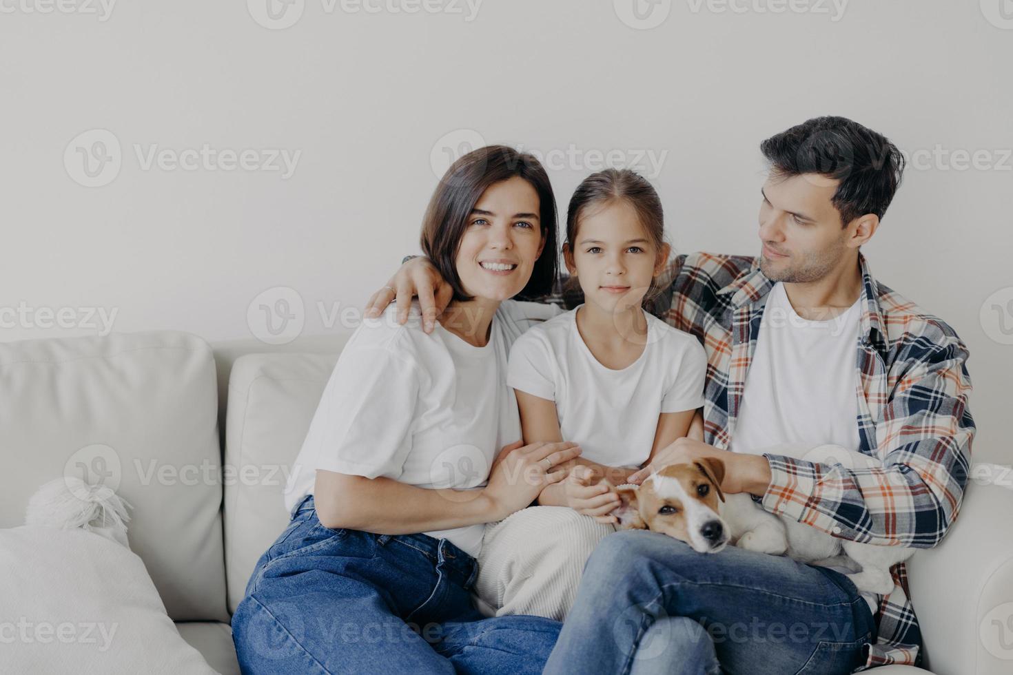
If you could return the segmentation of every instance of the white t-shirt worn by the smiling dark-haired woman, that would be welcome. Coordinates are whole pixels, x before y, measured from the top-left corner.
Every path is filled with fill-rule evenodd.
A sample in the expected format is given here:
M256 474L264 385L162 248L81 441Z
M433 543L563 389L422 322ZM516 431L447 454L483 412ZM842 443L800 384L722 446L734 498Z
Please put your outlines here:
M484 347L439 323L426 335L417 303L404 326L395 312L364 321L341 350L286 486L290 512L313 494L318 469L419 488L479 488L499 449L521 439L505 377L510 348L560 310L505 301ZM483 531L475 524L425 534L477 556Z

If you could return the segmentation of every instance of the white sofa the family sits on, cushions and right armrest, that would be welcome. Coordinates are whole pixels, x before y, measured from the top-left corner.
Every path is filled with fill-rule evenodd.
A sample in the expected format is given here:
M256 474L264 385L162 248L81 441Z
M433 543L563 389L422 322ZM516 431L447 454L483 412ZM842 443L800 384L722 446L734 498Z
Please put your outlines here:
M65 472L114 480L134 506L131 546L180 635L214 669L238 673L229 617L285 527L287 472L346 337L282 348L213 348L175 331L0 343L0 527L22 524L32 492ZM971 483L943 543L911 561L936 675L1013 673L1011 515L1013 491Z

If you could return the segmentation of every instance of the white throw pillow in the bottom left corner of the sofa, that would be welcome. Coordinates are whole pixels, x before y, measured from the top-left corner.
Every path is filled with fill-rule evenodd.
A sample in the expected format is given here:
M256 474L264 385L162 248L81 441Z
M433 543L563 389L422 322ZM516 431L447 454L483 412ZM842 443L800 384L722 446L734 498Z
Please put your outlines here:
M130 550L83 529L0 529L0 673L215 672Z

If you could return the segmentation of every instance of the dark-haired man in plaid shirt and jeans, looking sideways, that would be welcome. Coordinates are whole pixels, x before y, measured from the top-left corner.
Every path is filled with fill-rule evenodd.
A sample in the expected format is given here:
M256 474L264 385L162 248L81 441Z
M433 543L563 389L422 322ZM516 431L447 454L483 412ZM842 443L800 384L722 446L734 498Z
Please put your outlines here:
M872 544L932 547L956 518L973 420L967 350L943 321L872 276L860 253L901 182L881 135L819 117L761 145L770 163L761 254L676 258L665 317L708 356L703 440L654 465L714 456L722 488L772 513ZM427 321L446 304L423 260L370 308L417 289ZM391 291L394 290L392 293ZM779 446L834 443L878 460L850 469ZM664 535L610 535L585 570L547 673L848 673L918 664L904 565L863 596L840 571L729 547L701 556ZM720 664L720 666L718 665Z

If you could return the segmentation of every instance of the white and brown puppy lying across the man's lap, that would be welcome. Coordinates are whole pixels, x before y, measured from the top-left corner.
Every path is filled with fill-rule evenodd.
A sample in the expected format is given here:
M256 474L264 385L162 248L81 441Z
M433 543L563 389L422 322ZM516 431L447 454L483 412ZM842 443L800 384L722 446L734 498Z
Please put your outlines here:
M839 445L810 450L779 448L788 456L848 469L881 466L873 457ZM765 511L747 493L721 493L724 465L704 457L671 465L651 474L639 488L616 488L614 511L620 529L649 529L689 543L698 553L717 553L725 543L823 567L844 567L859 591L885 595L893 590L889 568L908 560L914 549L859 543L835 537L792 518Z

